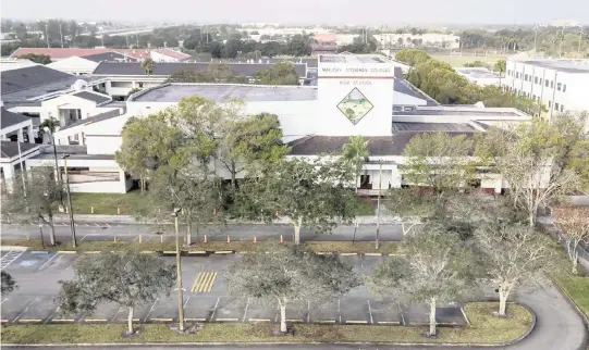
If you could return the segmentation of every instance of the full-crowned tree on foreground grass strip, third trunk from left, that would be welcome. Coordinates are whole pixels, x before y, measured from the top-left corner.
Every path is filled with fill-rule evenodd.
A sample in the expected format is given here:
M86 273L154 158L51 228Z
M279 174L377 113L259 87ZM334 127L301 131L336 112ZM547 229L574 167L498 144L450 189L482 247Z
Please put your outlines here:
M389 258L370 276L370 289L383 299L428 303L429 336L435 336L435 308L455 301L475 287L477 263L456 236L440 227L405 237L403 257Z

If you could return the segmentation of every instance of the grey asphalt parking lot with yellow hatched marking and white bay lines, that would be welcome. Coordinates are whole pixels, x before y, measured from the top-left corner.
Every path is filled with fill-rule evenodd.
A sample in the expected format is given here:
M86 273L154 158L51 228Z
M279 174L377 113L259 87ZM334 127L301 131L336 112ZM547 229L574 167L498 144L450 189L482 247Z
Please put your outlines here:
M82 254L35 253L2 251L2 271L10 273L19 285L1 300L1 322L17 324L41 323L123 323L127 310L115 304L100 304L94 314L62 314L56 303L59 280L71 279L74 263ZM8 258L7 258L8 257ZM4 258L7 264L4 266ZM174 258L164 258L174 262ZM277 307L262 305L254 300L226 295L224 273L241 259L240 254L211 254L185 257L182 260L184 317L198 322L275 322ZM341 259L366 277L384 257L346 255ZM8 262L10 260L10 263ZM320 303L298 302L287 307L290 322L323 324L421 325L428 322L427 305L412 305L403 311L396 303L377 300L360 286L340 299ZM177 297L162 295L155 302L135 308L134 321L142 323L177 320ZM456 305L438 310L442 325L464 325L465 320Z

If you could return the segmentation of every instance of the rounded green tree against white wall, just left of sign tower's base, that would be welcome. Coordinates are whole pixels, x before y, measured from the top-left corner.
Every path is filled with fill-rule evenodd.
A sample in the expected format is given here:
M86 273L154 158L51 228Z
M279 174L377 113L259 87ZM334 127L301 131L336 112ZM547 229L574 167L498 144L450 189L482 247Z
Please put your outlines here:
M228 120L225 133L218 135L219 161L231 174L231 184L236 176L255 167L266 167L282 160L289 147L282 143L280 121L275 114L260 113L245 118Z

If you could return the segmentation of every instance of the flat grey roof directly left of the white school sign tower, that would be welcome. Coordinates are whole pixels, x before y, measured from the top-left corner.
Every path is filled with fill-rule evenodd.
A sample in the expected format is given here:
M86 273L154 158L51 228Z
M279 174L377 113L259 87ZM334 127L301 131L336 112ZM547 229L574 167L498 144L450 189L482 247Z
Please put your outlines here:
M180 102L182 98L195 95L217 102L226 101L230 98L238 98L246 102L309 101L317 100L317 87L173 83L138 92L130 101Z

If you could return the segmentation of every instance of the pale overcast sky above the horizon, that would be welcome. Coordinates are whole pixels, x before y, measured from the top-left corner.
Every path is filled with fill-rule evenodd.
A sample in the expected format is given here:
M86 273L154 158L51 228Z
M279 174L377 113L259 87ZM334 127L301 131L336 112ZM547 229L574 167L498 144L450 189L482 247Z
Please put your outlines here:
M589 24L589 0L1 0L3 18L366 25Z

